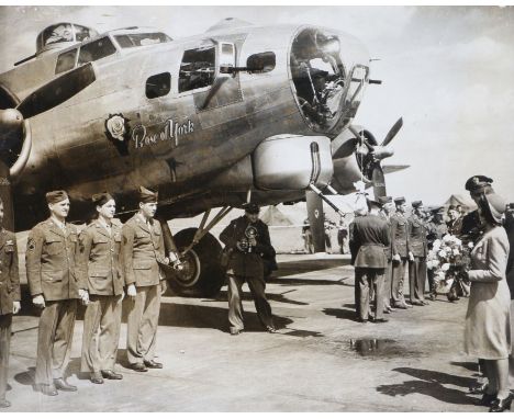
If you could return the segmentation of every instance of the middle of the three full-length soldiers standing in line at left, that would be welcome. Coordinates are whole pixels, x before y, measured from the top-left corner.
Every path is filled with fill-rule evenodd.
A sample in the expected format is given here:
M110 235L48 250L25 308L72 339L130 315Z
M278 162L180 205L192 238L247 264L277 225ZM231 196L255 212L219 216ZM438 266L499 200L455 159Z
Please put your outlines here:
M109 193L92 196L98 217L79 236L77 270L80 288L88 293L83 316L80 371L91 382L122 380L114 372L120 340L123 276L120 264L121 223L114 220L116 204Z

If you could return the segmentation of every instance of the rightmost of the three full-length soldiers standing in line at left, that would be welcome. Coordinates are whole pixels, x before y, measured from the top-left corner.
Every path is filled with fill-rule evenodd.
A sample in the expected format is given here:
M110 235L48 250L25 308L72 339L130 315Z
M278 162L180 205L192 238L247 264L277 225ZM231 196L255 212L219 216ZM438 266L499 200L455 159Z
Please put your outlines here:
M161 369L154 360L160 295L166 281L159 263L165 257L163 229L154 220L157 192L139 188L139 211L122 228L122 265L126 294L132 299L127 317L126 354L131 367L138 372Z

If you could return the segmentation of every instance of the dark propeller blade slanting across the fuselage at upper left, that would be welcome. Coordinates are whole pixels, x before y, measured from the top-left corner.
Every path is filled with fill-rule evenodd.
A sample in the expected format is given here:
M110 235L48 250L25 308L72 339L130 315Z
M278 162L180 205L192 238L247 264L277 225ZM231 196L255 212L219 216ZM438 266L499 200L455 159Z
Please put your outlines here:
M49 111L72 98L96 80L91 63L64 73L29 94L18 105L25 118Z

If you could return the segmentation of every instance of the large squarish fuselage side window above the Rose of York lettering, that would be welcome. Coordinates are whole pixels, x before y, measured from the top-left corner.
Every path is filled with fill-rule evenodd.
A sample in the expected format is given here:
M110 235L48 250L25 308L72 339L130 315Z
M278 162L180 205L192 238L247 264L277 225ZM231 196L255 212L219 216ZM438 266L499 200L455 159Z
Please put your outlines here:
M179 71L179 93L205 88L214 82L216 53L214 46L188 49Z

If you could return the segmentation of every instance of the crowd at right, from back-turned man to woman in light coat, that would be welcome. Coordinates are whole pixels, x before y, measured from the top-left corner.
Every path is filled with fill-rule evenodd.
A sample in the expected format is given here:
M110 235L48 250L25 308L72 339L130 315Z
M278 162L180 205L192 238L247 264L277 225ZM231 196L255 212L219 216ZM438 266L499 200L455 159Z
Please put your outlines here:
M456 301L459 294L469 295L463 348L479 360L485 377L470 392L482 394L479 404L488 406L489 411L500 412L510 409L513 399L509 358L514 301L514 252L510 252L514 205L494 192L492 182L484 175L470 178L465 188L478 208L463 215L461 208L449 206L447 223L442 206L425 211L421 201L414 201L407 216L403 197L367 199L367 210L356 213L349 230L356 315L361 322L386 322L384 314L428 305L427 299L437 295L434 268L427 265L431 248L447 235L468 246L468 263L446 267L455 275L447 297Z

